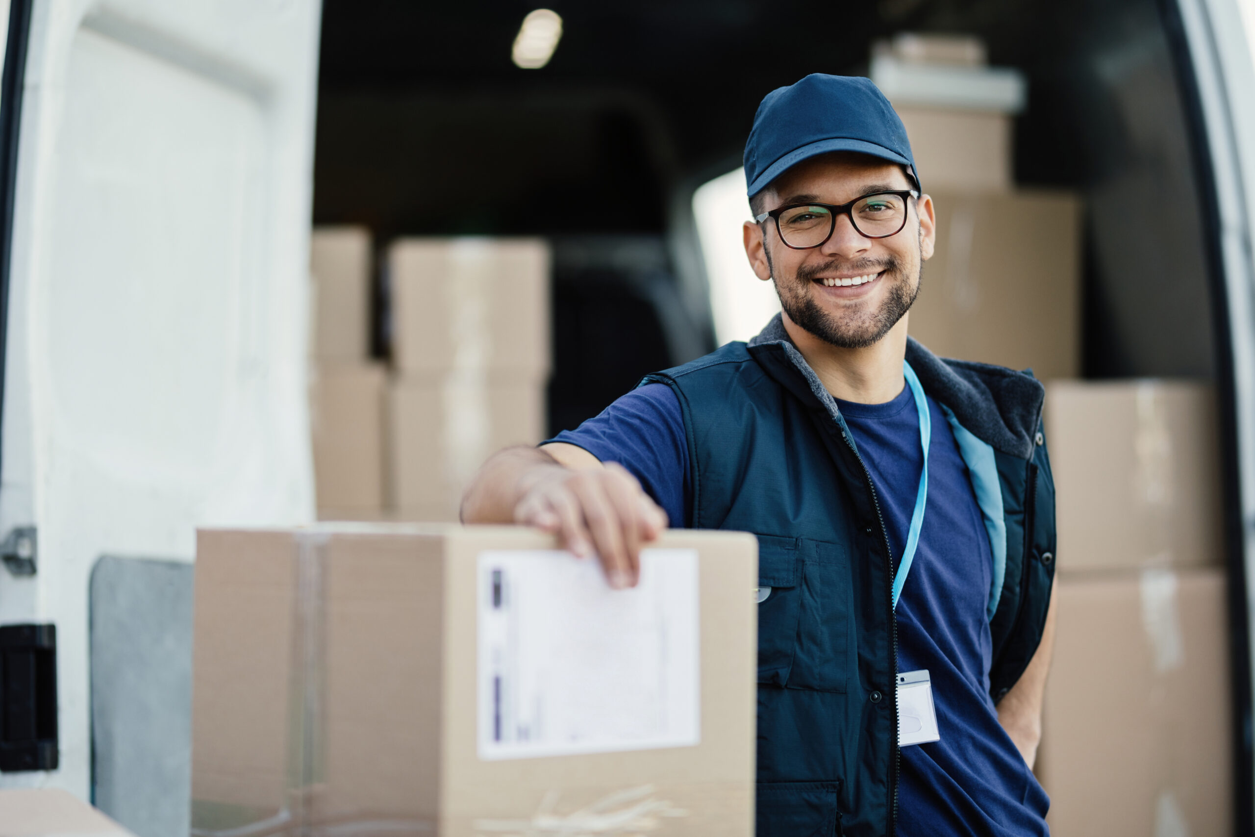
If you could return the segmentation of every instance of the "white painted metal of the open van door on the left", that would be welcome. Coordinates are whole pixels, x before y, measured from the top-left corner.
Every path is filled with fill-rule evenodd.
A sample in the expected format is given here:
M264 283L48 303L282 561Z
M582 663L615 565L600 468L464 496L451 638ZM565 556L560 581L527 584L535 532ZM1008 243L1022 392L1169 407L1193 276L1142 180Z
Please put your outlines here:
M0 530L56 624L60 769L87 797L88 573L202 525L312 520L305 402L316 0L43 0L26 68Z

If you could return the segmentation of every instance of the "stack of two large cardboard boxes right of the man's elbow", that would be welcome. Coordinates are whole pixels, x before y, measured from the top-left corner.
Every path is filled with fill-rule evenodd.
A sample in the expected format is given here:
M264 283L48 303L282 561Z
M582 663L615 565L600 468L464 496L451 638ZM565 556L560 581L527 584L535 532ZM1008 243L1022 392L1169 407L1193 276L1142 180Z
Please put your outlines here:
M1216 418L1188 381L1057 381L1058 634L1037 765L1052 832L1230 833Z

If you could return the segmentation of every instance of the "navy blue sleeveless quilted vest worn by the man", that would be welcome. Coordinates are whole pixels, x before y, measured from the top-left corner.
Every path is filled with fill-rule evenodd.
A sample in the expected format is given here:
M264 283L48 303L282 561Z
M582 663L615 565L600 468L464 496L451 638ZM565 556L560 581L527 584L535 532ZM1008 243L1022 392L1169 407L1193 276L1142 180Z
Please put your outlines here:
M986 516L996 700L1037 650L1053 584L1044 390L914 341L907 360L951 419ZM643 383L679 398L693 527L754 532L759 584L772 587L758 612L758 836L892 834L896 565L845 419L778 319L748 346Z

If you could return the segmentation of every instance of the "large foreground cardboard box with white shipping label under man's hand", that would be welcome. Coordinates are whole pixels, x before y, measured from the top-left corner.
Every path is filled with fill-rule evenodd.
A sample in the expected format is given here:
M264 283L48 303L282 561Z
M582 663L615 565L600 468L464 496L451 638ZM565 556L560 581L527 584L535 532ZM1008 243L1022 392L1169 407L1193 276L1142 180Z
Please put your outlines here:
M749 837L757 541L656 546L612 591L516 527L200 532L193 828Z

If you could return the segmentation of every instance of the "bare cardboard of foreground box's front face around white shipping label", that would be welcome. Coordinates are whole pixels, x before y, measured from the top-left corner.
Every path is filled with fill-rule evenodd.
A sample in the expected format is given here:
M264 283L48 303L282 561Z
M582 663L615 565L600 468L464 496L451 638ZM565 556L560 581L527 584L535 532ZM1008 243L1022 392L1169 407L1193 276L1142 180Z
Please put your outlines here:
M643 789L619 807L651 799L661 836L748 837L753 833L754 739L757 729L758 543L734 532L668 532L661 547L699 551L702 617L702 743L635 753L481 762L476 757L474 556L489 543L513 541L516 530L479 535L467 530L451 541L446 631L446 808L441 833L478 834L476 819L527 819L548 792L560 792L557 814ZM552 543L527 533L520 546ZM488 540L491 538L491 540ZM498 547L499 548L499 547Z

